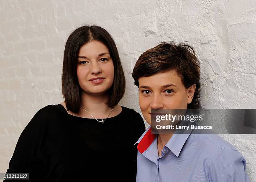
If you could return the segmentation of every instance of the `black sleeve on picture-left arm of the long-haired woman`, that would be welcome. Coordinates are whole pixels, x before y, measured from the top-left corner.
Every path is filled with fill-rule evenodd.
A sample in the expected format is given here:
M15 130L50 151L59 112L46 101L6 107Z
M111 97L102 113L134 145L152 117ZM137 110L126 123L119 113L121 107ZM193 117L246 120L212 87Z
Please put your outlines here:
M42 141L46 129L47 110L48 106L39 110L20 134L7 173L29 173L29 181L43 181L40 179L45 163ZM9 181L11 180L4 180Z

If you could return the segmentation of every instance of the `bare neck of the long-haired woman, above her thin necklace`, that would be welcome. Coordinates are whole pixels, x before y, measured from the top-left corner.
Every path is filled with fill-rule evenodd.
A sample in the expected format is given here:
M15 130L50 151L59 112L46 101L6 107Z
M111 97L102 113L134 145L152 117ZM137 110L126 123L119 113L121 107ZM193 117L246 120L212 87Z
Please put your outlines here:
M89 95L86 93L82 94L81 105L86 109L90 114L105 114L110 111L106 101L108 101L108 94L102 95Z

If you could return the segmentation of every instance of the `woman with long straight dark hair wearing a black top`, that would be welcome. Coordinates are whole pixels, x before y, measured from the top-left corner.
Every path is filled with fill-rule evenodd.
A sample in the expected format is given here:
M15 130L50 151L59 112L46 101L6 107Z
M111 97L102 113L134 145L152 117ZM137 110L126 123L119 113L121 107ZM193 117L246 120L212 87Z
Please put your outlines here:
M124 92L110 34L96 25L74 30L64 51L64 102L40 109L28 123L8 173L29 173L36 182L135 181L133 144L145 126L140 114L118 105Z

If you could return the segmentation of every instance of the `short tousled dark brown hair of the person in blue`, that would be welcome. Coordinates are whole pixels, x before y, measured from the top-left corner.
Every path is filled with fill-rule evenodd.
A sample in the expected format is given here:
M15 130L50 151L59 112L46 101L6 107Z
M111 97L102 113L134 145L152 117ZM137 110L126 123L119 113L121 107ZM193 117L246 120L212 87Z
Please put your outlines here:
M170 70L175 71L186 88L196 85L194 97L187 109L200 109L200 63L194 49L185 43L176 45L174 42L163 42L144 52L133 68L134 84L138 86L141 77Z

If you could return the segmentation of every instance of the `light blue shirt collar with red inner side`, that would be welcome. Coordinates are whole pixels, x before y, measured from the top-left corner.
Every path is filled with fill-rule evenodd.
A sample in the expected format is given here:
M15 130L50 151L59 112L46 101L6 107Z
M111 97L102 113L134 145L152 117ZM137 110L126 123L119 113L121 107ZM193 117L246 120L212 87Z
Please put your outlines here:
M191 132L192 132L192 129L185 130L182 134L175 131L171 139L167 142L165 146L168 147L168 149L172 151L172 153L175 156L179 157L182 147L184 146ZM141 137L138 139L138 141L135 143L135 144L138 143L138 146L137 146L138 151L141 154L145 152L148 149L148 147L152 144L156 136L157 136L156 134L151 133L151 126L149 126L146 129L146 131L141 135Z

